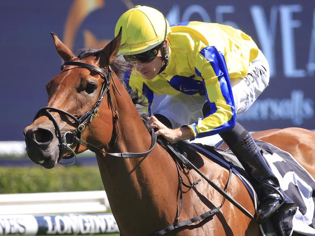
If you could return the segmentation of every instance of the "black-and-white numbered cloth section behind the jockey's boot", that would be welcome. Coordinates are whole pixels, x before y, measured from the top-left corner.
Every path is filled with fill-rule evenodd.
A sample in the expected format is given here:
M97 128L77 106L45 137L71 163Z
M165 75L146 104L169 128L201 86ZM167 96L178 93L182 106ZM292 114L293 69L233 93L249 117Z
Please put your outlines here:
M270 143L256 141L265 151L264 157L281 188L295 202L285 213L277 212L272 220L278 223L280 235L315 236L315 180L291 154Z

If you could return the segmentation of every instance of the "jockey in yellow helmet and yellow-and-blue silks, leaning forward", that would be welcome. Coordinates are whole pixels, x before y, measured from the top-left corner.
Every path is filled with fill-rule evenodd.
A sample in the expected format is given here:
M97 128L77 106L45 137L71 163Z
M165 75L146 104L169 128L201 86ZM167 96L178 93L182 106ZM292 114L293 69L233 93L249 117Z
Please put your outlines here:
M127 84L144 94L166 94L151 127L170 142L219 134L257 182L258 223L293 205L249 132L236 122L269 82L268 62L255 42L230 26L182 22L169 26L154 8L135 6L116 23L119 52L133 70Z

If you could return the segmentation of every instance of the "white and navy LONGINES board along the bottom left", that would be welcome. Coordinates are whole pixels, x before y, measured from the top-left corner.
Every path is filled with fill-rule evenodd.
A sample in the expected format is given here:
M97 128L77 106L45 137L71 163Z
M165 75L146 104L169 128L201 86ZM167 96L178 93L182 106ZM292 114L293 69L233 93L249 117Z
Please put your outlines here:
M0 215L0 235L104 235L118 232L112 213Z

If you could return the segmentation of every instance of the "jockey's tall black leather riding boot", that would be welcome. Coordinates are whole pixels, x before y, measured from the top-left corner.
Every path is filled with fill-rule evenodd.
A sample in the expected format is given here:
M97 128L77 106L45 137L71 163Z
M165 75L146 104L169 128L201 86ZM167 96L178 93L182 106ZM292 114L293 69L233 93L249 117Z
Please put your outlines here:
M263 223L277 210L286 211L294 203L279 186L278 179L271 172L249 132L239 123L220 136L226 142L246 172L257 181L259 205L256 215Z

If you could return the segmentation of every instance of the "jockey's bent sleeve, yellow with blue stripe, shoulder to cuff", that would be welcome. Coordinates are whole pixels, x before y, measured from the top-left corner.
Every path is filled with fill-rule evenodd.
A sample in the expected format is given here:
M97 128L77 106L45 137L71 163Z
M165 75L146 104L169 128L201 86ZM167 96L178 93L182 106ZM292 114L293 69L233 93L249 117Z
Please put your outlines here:
M188 127L195 138L231 129L235 125L235 106L224 56L216 47L204 47L197 56L195 72L202 78L210 111Z

